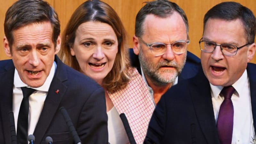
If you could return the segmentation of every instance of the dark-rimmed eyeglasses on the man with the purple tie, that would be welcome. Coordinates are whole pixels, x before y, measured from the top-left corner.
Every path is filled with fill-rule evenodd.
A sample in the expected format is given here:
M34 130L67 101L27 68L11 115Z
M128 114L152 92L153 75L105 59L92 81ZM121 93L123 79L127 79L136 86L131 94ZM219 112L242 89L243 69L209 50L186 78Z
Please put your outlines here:
M217 45L215 42L205 41L202 39L203 38L201 38L199 41L200 49L202 51L207 52L207 53L212 53L217 46L220 46L220 50L221 50L222 54L228 55L228 56L236 55L238 49L250 44L250 43L247 43L241 47L236 47L234 45L228 45L228 44Z

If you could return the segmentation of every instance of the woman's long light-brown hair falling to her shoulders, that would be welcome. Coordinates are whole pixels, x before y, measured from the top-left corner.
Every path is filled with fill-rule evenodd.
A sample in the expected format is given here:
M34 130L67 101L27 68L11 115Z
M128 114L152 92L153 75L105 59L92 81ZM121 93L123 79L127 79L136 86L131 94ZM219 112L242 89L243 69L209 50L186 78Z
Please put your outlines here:
M116 33L118 53L113 68L103 79L102 87L109 92L123 89L131 79L127 36L116 11L108 4L100 0L87 0L76 9L63 32L61 50L58 56L65 64L82 72L76 56L70 54L70 46L74 44L78 26L88 21L107 23Z

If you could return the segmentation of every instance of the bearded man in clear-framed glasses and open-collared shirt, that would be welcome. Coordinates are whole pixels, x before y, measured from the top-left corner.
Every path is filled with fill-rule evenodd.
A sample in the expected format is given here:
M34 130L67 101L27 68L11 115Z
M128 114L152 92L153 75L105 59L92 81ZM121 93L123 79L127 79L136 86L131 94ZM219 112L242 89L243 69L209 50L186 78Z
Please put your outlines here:
M130 58L148 84L155 104L178 81L196 75L200 60L190 52L187 55L188 44L188 19L177 4L151 1L140 9Z

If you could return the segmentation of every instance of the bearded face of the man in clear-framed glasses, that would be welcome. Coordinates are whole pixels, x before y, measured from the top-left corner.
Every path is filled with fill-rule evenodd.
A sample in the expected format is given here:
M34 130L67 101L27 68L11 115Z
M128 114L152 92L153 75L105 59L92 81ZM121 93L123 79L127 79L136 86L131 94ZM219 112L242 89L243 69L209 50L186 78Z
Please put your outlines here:
M186 25L177 12L167 18L149 14L145 18L143 27L144 34L141 39L146 43L170 44L178 40L187 40ZM136 36L133 38L133 44L134 53L139 55L147 81L157 85L174 82L186 62L187 51L183 54L174 54L170 45L163 55L155 56Z

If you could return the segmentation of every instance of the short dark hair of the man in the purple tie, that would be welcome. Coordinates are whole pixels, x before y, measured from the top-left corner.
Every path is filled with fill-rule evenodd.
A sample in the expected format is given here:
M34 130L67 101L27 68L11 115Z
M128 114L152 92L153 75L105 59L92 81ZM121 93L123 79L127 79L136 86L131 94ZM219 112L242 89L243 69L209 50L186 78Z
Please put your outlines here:
M254 43L256 19L247 7L236 2L223 2L215 5L204 15L204 29L209 18L219 18L227 21L239 18L244 26L247 43Z

